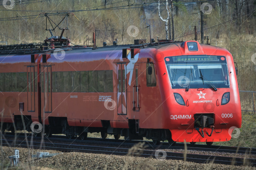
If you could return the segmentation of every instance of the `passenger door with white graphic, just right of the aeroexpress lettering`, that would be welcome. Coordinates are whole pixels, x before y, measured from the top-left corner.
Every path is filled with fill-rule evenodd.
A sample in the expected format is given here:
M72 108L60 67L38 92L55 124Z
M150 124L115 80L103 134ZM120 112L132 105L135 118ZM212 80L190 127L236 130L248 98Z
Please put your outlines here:
M126 102L126 65L125 63L117 64L117 114L127 114L127 102Z

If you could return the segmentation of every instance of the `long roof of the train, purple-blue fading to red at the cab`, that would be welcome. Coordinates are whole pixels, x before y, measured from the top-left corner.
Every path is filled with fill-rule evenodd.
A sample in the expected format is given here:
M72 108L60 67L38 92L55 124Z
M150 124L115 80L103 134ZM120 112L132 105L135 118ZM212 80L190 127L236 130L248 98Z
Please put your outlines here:
M72 57L67 57L63 61L76 61L77 59L82 59L84 58L84 54L88 53L95 53L98 52L99 54L105 53L105 54L113 54L114 51L122 51L122 49L127 49L127 48L137 48L137 49L142 49L141 52L148 52L149 51L157 51L157 52L163 52L163 51L176 51L177 54L180 55L189 55L189 53L186 53L186 49L183 48L184 43L187 42L194 42L198 44L198 47L202 49L205 55L213 54L216 49L218 51L222 51L222 53L226 54L229 53L226 49L212 46L212 45L207 45L207 44L199 44L197 41L170 41L170 40L162 40L159 43L143 43L143 44L127 44L127 45L110 45L110 46L105 46L105 47L97 47L97 48L92 48L92 47L86 47L86 46L68 46L68 47L63 47L63 48L55 48L55 49L46 49L42 50L42 48L39 46L39 44L20 44L20 45L9 45L9 48L6 46L0 46L0 63L16 63L16 62L27 62L31 60L31 54L54 54L54 51L56 49L59 50L64 50L65 54L70 55L70 54L76 54L75 56L73 55ZM15 49L10 50L10 47L16 47ZM17 48L19 47L19 48ZM22 49L23 47L23 49ZM32 47L32 48L30 48ZM4 49L4 50L3 50ZM199 49L199 48L198 48ZM111 52L109 52L111 51ZM188 52L188 51L187 51ZM199 52L199 51L198 51ZM196 54L196 53L195 53ZM198 53L199 54L199 53ZM190 54L191 55L191 54ZM214 55L214 54L213 54ZM216 55L216 54L215 54ZM91 56L91 55L89 55ZM104 55L103 55L104 56ZM92 58L92 57L86 57L86 58ZM94 59L101 59L102 56L93 56ZM52 58L55 60L54 58ZM51 60L52 60L51 59ZM82 59L84 60L84 59ZM86 59L88 60L88 59ZM63 62L63 61L57 61L57 62Z

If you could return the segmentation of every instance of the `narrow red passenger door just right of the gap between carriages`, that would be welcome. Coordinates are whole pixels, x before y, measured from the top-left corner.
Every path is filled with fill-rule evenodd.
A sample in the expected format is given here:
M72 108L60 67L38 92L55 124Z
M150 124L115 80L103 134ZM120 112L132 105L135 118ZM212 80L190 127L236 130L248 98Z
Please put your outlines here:
M45 113L52 112L52 66L44 66L44 108Z

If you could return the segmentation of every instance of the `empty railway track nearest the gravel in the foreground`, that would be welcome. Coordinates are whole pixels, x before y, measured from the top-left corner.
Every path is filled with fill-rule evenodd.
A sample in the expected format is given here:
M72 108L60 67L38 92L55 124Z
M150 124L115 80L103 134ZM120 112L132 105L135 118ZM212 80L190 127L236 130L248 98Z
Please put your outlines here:
M89 152L89 153L103 153L108 155L131 155L131 156L141 156L141 157L153 157L161 158L163 155L158 153L156 155L155 150L137 149L131 151L128 148L116 148L116 147L104 147L104 146L92 146L92 145L77 145L77 144L60 144L60 143L41 143L41 142L26 142L26 141L15 141L13 140L1 140L3 146L12 147L30 147L34 149L47 149L47 150L60 150L62 152ZM164 159L174 159L174 160L186 160L198 163L218 163L218 164L229 164L229 165L248 165L256 167L256 159L251 158L237 158L237 157L227 157L227 156L211 156L211 155L201 155L201 154L184 154L177 152L165 152L166 157ZM160 154L160 155L159 155Z

